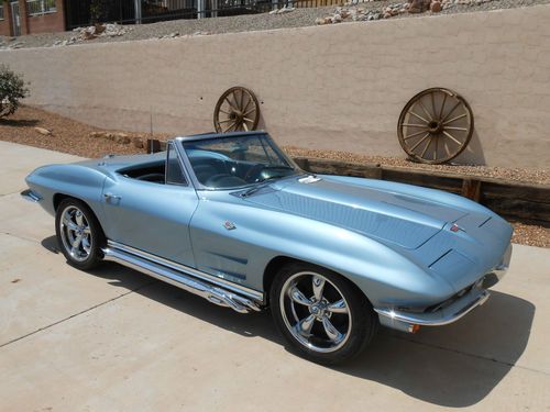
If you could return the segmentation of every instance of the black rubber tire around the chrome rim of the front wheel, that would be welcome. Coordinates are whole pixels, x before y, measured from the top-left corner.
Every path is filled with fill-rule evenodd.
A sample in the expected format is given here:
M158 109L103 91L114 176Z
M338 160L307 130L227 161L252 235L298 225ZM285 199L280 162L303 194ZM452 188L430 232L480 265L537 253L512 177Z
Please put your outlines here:
M298 312L297 308L301 308L299 310L304 311L306 313L306 316L308 318L317 315L318 312L316 310L315 311L316 314L314 314L312 307L307 307L307 305L302 307L301 305L302 303L296 303L297 301L290 299L287 291L289 290L288 288L292 287L293 285L299 286L300 285L299 282L305 282L304 283L305 286L299 286L299 287L307 289L307 282L309 280L308 278L306 278L306 276L310 276L309 274L315 274L315 276L311 276L312 280L315 277L328 280L329 281L328 283L323 281L323 288L330 288L330 289L326 291L323 290L323 293L324 292L329 293L331 291L332 296L334 296L334 291L340 293L348 309L348 313L345 314L329 312L329 314L323 315L323 316L329 316L330 320L332 319L331 316L336 316L337 314L340 316L348 316L349 314L349 320L341 322L343 329L346 330L345 334L346 337L342 338L339 344L333 345L333 348L318 347L322 343L322 336L320 335L322 335L323 333L327 336L327 342L329 343L329 345L332 343L332 341L330 341L330 338L328 337L329 334L324 327L324 320L322 319L322 316L320 316L320 319L316 318L316 320L312 322L314 326L310 327L309 337L301 336L301 332L297 331L299 329L298 327L299 319L296 318ZM327 285L329 285L329 287L327 287ZM311 286L311 288L314 288L314 286ZM314 294L309 299L314 299L315 297L315 289L311 290L312 290L311 293ZM282 293L284 293L285 297L282 297ZM307 298L307 292L302 293L302 296ZM321 300L324 299L328 300L328 298L321 294ZM340 301L342 301L342 299L340 299ZM314 265L308 265L304 263L292 263L284 266L275 276L275 279L273 281L272 288L270 290L270 303L275 324L277 325L280 333L285 336L286 341L290 344L290 348L293 349L293 352L297 353L298 355L309 360L322 365L336 365L352 359L369 345L369 343L371 342L372 337L374 336L378 327L378 319L371 303L365 298L365 296L356 289L356 287L353 283L351 283L348 279L343 278L342 276L331 270ZM333 302L330 302L330 300L328 300L328 302L323 303L324 309L328 309L327 307L328 303L333 303ZM282 308L282 304L284 305L284 308ZM288 305L294 305L292 311L287 310ZM294 320L297 321L296 324L294 325L290 324L292 321L288 318L293 316L289 316L287 314L288 312L293 314ZM333 322L337 321L338 318L333 318ZM321 326L316 326L318 322L321 324ZM319 330L319 327L322 329ZM316 329L317 329L317 335L319 336L317 336L315 333ZM341 333L341 335L344 334ZM304 342L305 339L307 339L308 342ZM317 339L319 344L311 344L311 342L314 342L315 339ZM339 341L337 339L336 342ZM330 350L330 352L322 352L322 350Z

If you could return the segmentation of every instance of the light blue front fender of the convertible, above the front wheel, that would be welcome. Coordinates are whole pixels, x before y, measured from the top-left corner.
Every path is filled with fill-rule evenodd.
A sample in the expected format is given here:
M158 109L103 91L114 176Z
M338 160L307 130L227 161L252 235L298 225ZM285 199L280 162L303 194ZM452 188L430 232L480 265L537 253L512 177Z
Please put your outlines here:
M202 197L191 220L199 270L262 290L267 265L283 256L344 276L375 305L437 303L454 293L444 279L367 236L223 197Z

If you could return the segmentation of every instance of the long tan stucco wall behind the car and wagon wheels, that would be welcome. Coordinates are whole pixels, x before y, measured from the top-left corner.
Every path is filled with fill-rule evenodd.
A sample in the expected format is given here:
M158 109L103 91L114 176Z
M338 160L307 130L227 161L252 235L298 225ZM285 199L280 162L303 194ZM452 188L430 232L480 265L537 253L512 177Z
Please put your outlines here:
M211 131L242 85L283 144L402 156L396 123L419 90L472 105L458 160L550 164L550 5L377 22L0 52L36 104L109 129Z

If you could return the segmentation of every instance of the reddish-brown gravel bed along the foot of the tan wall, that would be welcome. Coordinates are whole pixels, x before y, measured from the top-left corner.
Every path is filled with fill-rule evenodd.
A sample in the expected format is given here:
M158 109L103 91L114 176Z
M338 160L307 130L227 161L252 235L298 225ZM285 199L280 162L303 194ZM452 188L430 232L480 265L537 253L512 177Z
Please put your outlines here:
M35 127L42 127L50 132L50 135L38 133ZM9 120L0 119L0 140L14 142L35 147L48 148L53 151L69 153L82 157L101 157L106 154L135 154L143 153L133 144L121 144L114 141L99 137L90 137L91 133L102 132L98 127L92 127L58 114L48 113L31 107L21 107L20 110ZM144 133L127 133L132 137L146 138ZM166 140L167 134L155 134L155 138ZM480 176L493 176L510 178L512 176L522 176L527 181L542 180L550 182L548 170L543 174L539 170L504 169L488 167L470 166L427 166L411 164L399 158L359 156L351 153L309 151L300 147L284 147L292 156L321 157L340 159L346 162L369 162L392 166L419 167L437 169L439 171L452 171L455 174L468 172ZM513 222L515 233L513 242L538 247L550 248L550 227L529 224L529 222Z

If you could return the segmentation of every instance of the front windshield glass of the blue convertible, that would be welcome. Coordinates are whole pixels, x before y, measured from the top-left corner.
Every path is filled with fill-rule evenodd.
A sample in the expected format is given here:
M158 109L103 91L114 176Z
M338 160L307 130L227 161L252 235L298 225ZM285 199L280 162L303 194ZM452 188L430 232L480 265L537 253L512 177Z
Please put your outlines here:
M243 188L301 174L266 134L189 141L183 146L197 180L210 189Z

